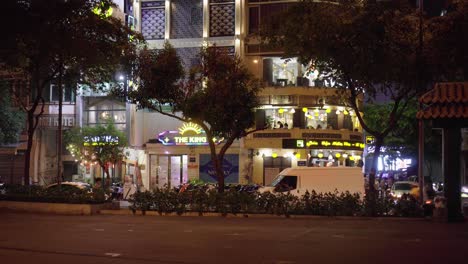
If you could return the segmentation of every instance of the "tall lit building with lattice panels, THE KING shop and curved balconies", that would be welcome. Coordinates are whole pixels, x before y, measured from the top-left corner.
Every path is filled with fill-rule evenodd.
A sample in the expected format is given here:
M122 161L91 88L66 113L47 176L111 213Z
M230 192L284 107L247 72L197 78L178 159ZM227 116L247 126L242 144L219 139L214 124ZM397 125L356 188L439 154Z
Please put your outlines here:
M269 128L229 149L224 165L228 183L267 184L274 174L291 166L360 163L362 130L353 111L341 103L337 90L318 80L317 73L296 58L264 50L249 37L261 21L292 2L133 1L132 21L137 22L136 29L151 48L162 48L169 41L189 68L198 62L203 45L216 44L241 56L264 81L257 126L268 123ZM144 165L140 172L145 187L174 186L188 179L215 181L206 144L187 141L187 135L203 138L203 132L197 132L192 124L149 111L131 113L130 138L134 147L144 150L144 155L138 155L138 164Z

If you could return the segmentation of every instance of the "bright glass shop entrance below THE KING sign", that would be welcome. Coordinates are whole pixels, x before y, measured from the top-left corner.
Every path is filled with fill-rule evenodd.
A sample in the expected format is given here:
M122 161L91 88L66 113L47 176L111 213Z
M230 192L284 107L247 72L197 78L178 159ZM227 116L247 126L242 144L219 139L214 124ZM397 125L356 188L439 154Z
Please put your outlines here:
M187 182L187 155L151 155L150 160L151 188L173 188Z

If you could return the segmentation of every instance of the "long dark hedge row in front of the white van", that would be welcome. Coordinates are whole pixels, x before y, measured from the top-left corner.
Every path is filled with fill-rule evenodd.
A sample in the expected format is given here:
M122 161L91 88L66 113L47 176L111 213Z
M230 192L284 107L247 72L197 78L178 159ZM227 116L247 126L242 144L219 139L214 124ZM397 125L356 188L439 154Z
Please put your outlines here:
M358 194L349 192L316 193L307 192L302 197L290 193L239 192L228 189L218 193L215 189L195 189L178 192L172 189L155 189L135 193L130 200L130 209L157 211L159 214L191 211L203 214L217 212L226 214L276 214L276 215L325 215L364 216L368 215L369 203ZM399 201L378 198L378 216L422 216L422 210L411 196Z

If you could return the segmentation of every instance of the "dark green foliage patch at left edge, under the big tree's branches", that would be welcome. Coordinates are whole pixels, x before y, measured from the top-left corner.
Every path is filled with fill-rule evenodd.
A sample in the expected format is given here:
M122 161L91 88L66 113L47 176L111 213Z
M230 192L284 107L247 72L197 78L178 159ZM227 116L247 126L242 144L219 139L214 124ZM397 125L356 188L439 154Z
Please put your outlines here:
M0 82L0 145L16 143L24 127L24 113L11 105L7 83Z

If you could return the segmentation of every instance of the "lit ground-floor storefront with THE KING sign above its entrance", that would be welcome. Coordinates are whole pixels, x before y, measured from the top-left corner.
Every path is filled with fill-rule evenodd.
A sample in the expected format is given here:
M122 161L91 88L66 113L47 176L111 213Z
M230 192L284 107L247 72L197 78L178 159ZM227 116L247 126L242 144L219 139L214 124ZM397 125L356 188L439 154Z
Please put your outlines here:
M213 138L217 147L223 139ZM194 123L183 123L178 129L165 130L146 144L149 188L177 187L190 180L217 182L206 133ZM240 149L235 142L225 154L225 182L239 183Z

